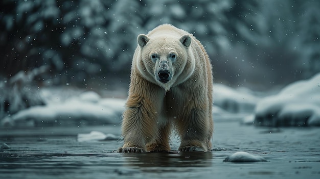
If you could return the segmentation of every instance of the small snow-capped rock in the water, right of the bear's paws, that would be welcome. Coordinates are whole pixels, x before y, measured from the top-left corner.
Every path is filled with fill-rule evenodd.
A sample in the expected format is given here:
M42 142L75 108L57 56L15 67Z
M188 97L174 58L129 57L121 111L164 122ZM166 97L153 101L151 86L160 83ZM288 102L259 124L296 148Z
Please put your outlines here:
M245 151L238 151L225 158L223 162L266 162L263 157L249 154Z

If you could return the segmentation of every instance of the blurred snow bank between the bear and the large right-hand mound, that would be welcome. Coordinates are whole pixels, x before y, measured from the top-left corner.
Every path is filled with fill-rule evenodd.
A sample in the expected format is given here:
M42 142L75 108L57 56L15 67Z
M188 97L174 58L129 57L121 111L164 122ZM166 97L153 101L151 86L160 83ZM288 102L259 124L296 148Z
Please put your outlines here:
M214 105L228 112L253 112L259 97L245 88L233 89L222 84L214 84Z

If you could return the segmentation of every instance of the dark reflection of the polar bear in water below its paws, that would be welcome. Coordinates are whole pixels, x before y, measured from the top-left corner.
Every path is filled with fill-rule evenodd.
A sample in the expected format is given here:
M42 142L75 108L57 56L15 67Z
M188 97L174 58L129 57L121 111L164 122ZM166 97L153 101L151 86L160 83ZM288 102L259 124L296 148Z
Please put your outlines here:
M212 152L144 152L123 153L125 165L139 167L142 171L184 171L189 167L211 167ZM152 169L153 168L153 169Z

